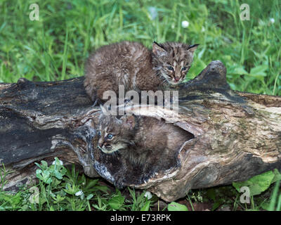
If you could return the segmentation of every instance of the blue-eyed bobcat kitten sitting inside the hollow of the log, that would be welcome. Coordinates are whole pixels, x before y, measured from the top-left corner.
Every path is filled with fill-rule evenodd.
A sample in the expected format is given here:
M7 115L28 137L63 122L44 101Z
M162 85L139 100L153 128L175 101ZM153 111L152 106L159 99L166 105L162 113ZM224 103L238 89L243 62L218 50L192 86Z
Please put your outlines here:
M97 134L97 148L103 153L118 152L132 167L144 170L169 169L176 163L179 148L193 138L174 124L134 115L100 115Z

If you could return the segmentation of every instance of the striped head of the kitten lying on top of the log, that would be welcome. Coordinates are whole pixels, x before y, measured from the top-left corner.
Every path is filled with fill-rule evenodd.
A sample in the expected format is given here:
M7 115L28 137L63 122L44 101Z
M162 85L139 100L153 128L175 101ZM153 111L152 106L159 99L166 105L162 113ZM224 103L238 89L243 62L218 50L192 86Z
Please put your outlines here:
M152 44L152 63L169 84L178 84L185 79L190 69L193 53L199 44L187 45L176 42Z

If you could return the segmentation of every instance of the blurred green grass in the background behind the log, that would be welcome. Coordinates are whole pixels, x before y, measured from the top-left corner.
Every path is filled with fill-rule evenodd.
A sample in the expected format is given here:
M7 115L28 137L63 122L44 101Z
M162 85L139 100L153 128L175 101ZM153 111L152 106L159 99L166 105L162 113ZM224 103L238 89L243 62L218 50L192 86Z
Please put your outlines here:
M221 60L233 89L281 95L278 0L247 1L249 21L240 20L242 1L236 0L37 1L39 21L29 18L32 3L0 1L1 82L82 76L89 52L115 41L183 41L200 44L188 79Z

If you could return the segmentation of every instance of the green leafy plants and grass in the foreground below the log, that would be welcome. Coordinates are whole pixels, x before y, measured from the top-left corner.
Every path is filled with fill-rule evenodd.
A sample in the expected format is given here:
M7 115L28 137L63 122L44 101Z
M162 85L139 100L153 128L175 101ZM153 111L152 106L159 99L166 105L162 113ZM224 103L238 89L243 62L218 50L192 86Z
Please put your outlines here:
M41 164L36 163L37 181L29 186L20 186L17 192L4 191L3 187L7 184L6 176L11 171L2 165L0 211L195 211L202 210L200 205L204 207L204 204L207 204L207 210L211 211L281 210L281 175L277 170L254 176L248 185L246 184L248 181L237 183L238 186L249 186L252 194L249 204L240 203L242 193L239 192L240 188L237 185L235 188L221 186L192 190L176 203L164 203L156 195L150 193L149 197L146 191L129 187L119 191L103 181L100 183L99 179L89 179L83 173L79 174L74 165L71 168L61 165L58 158L55 158L54 162L53 165L48 165L45 161L41 161ZM256 182L252 183L254 179Z

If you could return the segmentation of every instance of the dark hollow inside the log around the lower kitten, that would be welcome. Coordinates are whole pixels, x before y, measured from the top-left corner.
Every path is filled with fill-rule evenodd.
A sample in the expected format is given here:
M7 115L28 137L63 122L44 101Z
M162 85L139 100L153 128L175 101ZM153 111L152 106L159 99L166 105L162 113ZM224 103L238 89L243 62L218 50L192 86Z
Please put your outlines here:
M163 123L164 120L162 120ZM195 136L184 129L181 129L174 124L164 124L165 127L170 127L169 134L171 136L166 140L159 142L159 148L150 150L145 155L145 165L132 165L129 160L122 157L119 151L112 154L105 154L96 148L97 137L93 138L92 145L92 160L93 167L100 176L111 181L117 187L141 185L147 182L150 178L158 174L169 174L171 171L181 167L178 154L181 152L185 143L194 139ZM174 134L178 135L177 137ZM166 141L166 142L164 142ZM169 150L162 151L160 145L163 143L169 147ZM140 155L139 157L143 157Z

